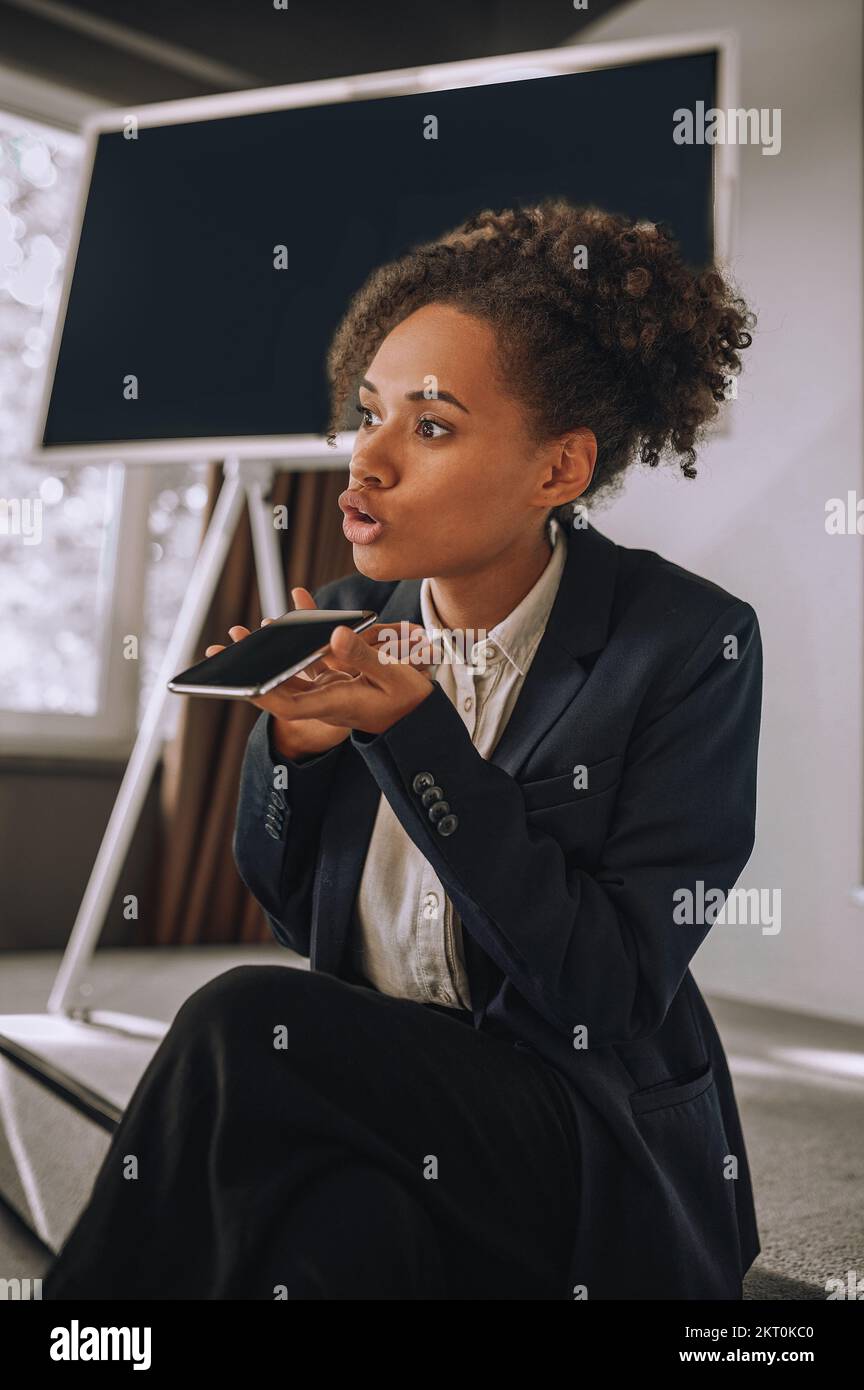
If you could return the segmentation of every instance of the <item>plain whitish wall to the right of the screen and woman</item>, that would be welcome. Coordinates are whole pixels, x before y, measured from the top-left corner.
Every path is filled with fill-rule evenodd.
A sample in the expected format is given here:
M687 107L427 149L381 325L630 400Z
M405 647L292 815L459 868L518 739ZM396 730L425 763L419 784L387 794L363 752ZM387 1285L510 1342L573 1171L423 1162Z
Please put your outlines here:
M782 149L740 149L731 270L758 314L728 436L700 477L633 473L593 514L756 609L765 687L757 844L740 887L782 890L782 929L717 923L700 987L864 1019L861 548L825 502L861 477L860 0L638 0L585 43L732 29L743 107L781 107ZM674 93L672 93L674 96Z

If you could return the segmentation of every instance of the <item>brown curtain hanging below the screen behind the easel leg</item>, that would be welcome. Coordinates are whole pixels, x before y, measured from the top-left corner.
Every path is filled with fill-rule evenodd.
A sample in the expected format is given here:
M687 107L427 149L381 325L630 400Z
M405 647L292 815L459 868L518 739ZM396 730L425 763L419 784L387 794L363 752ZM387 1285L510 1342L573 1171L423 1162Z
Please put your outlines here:
M222 481L211 464L207 525ZM278 473L271 505L288 507L282 541L288 606L290 589L313 592L354 570L336 505L347 470ZM211 642L228 645L236 623L254 630L261 617L249 516L243 512L231 543L193 660ZM144 927L144 944L268 941L264 913L238 874L232 837L240 766L258 710L249 701L182 696L176 737L164 749L160 788L157 912ZM149 916L149 915L147 915Z

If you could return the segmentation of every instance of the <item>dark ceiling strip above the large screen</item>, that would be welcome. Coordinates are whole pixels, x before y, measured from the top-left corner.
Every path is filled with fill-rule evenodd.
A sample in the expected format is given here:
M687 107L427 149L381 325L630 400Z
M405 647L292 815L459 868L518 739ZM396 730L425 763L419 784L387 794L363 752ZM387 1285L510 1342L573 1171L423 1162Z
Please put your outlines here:
M557 47L624 0L0 0L1 61L104 106ZM283 8L276 8L276 4Z

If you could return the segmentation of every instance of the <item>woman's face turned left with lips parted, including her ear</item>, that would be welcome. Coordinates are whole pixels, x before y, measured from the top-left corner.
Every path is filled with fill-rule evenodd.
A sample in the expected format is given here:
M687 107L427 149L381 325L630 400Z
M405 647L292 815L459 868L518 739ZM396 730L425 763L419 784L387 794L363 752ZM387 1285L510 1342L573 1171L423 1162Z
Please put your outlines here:
M583 443L561 463L560 442L529 442L524 407L496 381L493 350L483 320L426 304L369 363L347 491L363 493L381 525L358 524L347 495L339 499L368 578L443 578L483 569L513 545L524 552L542 538L549 509L588 485Z

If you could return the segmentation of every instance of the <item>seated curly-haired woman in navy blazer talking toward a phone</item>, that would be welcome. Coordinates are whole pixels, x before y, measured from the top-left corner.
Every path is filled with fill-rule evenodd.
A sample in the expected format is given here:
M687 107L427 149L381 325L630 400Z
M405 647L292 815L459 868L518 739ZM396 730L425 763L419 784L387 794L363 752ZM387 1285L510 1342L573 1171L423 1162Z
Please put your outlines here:
M663 227L560 199L358 292L357 573L294 602L379 621L257 701L233 844L311 969L185 1002L44 1297L742 1297L689 962L753 847L758 623L578 499L695 475L751 322Z

